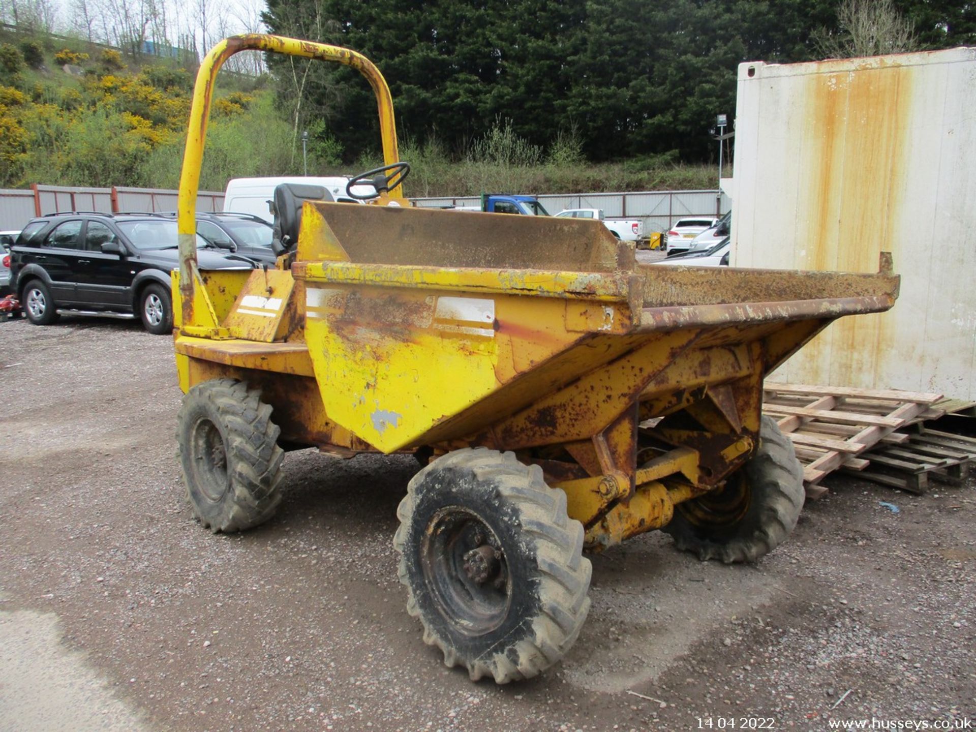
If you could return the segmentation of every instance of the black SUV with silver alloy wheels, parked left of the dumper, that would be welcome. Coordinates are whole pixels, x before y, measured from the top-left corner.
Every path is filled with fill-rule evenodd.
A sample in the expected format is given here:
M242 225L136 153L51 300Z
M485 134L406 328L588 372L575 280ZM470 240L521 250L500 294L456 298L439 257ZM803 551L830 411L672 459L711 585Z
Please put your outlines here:
M177 223L152 214L53 214L23 227L11 281L27 319L48 325L58 310L142 317L149 333L173 331L170 272L179 266ZM252 269L254 260L197 236L200 269Z

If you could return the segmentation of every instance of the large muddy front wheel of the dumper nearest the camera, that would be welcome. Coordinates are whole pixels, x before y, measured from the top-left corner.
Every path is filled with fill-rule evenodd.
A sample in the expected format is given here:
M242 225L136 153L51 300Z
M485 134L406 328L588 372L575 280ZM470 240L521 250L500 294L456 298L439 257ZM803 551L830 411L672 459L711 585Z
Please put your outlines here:
M458 450L414 476L397 515L407 612L446 666L508 683L565 655L590 610L590 560L540 468Z

